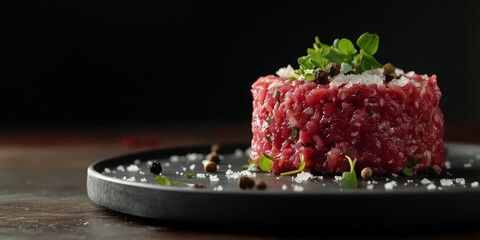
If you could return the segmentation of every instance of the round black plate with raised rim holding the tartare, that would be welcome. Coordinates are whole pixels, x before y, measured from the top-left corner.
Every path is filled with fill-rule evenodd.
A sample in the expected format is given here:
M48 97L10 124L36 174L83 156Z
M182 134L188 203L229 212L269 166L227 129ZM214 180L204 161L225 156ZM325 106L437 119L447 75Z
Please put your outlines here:
M205 178L202 160L210 146L153 149L103 159L88 168L88 196L111 210L180 223L304 228L342 226L346 221L365 227L480 222L479 145L446 143L447 169L435 178L382 176L359 180L357 189L341 189L334 177L297 182L292 176L256 172L254 179L264 181L267 189L241 190L235 177L244 170L248 147L223 146L218 171ZM156 175L147 167L150 160L162 163L162 175L206 188L157 185ZM189 173L192 179L186 177Z

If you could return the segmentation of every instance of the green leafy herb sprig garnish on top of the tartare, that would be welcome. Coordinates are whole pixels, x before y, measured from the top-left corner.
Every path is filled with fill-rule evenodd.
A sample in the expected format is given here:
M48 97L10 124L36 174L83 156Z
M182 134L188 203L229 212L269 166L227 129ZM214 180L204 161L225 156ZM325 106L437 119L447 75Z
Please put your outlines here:
M378 50L380 38L374 33L364 33L357 39L359 51L353 43L346 39L335 39L332 46L320 42L315 37L313 48L307 49L306 56L298 58L299 69L292 77L301 81L312 81L315 79L316 71L326 71L329 63L340 65L340 72L362 73L366 70L382 67L373 57Z

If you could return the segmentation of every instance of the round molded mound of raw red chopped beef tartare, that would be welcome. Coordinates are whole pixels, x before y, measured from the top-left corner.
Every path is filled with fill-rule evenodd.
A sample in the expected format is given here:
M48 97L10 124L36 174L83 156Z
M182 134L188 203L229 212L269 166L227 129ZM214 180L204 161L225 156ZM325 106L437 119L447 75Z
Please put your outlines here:
M403 74L391 83L317 84L273 75L252 85L252 151L275 157L276 174L299 168L339 174L349 171L398 173L412 158L414 172L444 166L443 114L436 76Z

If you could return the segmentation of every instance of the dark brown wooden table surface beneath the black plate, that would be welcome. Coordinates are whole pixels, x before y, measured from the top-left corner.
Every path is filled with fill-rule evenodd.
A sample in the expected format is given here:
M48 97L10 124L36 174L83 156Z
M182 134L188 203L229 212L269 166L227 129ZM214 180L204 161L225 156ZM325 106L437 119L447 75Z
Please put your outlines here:
M480 144L480 126L446 125L445 140ZM110 211L86 194L87 167L119 154L191 144L247 142L248 123L3 127L0 132L0 239L285 239L318 238L295 229L197 228ZM478 207L478 206L473 206ZM480 219L479 219L480 222ZM296 234L307 232L306 234ZM347 234L347 235L346 235ZM480 228L338 232L329 238L480 239Z

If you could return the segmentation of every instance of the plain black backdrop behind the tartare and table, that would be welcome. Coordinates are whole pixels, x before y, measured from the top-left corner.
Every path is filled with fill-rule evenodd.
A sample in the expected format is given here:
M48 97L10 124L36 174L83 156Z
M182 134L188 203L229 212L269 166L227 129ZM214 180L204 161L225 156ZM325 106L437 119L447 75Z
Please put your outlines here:
M37 1L3 8L2 124L250 121L250 85L331 44L437 74L448 122L480 121L478 1Z

